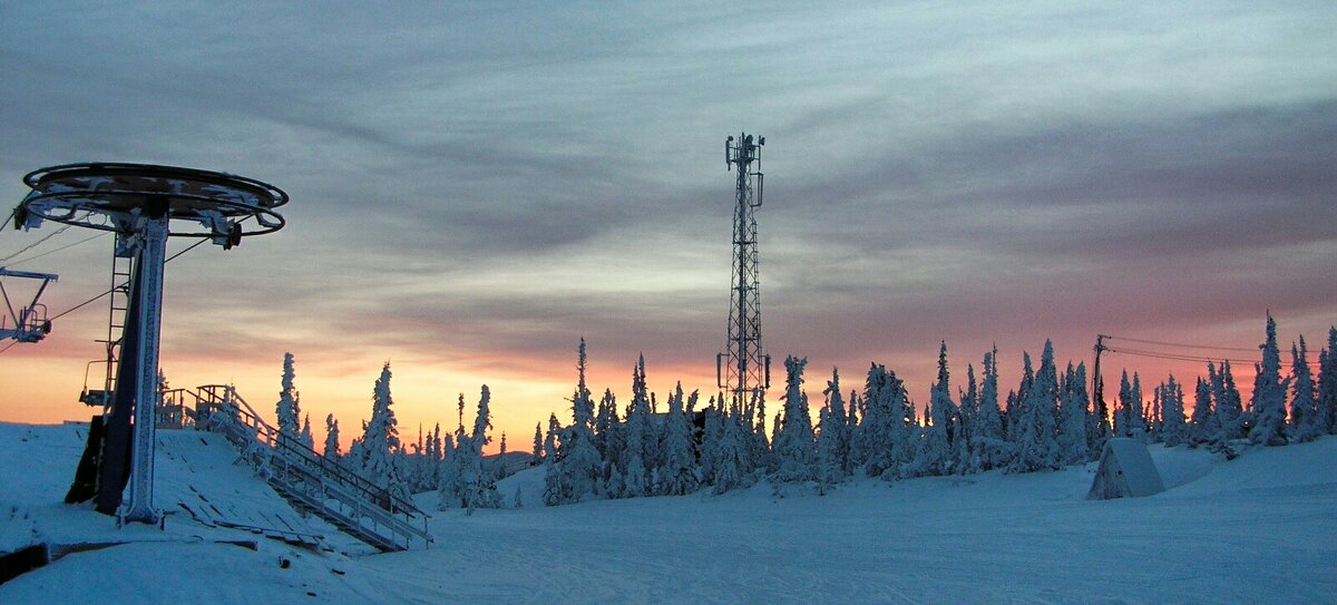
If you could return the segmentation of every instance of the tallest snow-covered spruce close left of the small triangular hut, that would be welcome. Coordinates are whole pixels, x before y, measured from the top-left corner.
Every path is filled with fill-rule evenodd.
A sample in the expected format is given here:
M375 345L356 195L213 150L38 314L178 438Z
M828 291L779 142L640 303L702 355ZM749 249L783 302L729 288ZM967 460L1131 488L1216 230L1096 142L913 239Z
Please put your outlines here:
M1032 472L1059 468L1059 444L1055 440L1054 416L1059 404L1059 377L1054 365L1054 344L1044 341L1040 369L1021 400L1021 410L1011 434L1016 456L1008 472Z

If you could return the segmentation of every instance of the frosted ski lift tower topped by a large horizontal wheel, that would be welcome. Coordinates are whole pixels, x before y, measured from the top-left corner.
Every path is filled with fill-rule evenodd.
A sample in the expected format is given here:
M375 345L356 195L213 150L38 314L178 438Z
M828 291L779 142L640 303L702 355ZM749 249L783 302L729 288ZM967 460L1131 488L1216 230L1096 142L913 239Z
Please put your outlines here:
M95 460L96 481L78 499L96 495L102 513L123 522L156 523L154 402L167 238L209 238L230 249L242 237L282 229L283 217L274 209L287 203L287 194L233 174L139 163L53 166L29 173L23 182L32 191L15 209L15 228L56 221L114 232L116 256L131 260L115 391L100 418L102 442L95 443L90 431L84 452ZM127 482L128 502L122 502ZM76 477L71 497L79 487Z

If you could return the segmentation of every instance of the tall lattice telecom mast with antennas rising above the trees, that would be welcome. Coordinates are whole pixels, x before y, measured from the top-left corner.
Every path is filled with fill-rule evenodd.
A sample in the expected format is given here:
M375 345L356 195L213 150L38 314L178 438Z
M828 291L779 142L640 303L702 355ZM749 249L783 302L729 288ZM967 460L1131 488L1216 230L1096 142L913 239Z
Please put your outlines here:
M762 202L761 147L765 137L742 133L725 139L725 166L735 170L734 269L729 300L729 344L715 356L719 388L746 404L770 388L770 356L761 347L761 289L757 272L757 215Z

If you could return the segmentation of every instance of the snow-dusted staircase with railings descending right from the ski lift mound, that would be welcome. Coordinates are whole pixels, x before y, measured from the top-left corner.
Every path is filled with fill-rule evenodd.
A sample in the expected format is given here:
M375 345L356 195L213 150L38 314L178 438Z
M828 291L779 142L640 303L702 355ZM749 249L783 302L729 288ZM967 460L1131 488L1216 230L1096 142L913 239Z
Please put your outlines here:
M187 399L195 400L194 410L186 406ZM159 419L180 419L176 426L194 423L195 428L222 434L294 509L381 551L408 550L414 543L431 547L427 514L301 440L281 435L231 385L171 390L162 400Z

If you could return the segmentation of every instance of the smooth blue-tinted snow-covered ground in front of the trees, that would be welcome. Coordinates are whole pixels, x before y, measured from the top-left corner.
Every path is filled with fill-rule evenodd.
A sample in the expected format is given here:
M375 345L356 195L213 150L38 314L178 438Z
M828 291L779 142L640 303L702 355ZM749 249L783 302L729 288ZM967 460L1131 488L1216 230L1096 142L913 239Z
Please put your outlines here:
M524 507L437 513L431 550L365 555L328 526L310 529L333 553L185 513L164 530L116 529L60 503L80 428L0 424L0 551L136 543L20 576L0 585L0 602L1337 602L1337 438L1231 462L1152 447L1169 491L1107 502L1083 499L1091 464L860 481L826 497L763 483L548 509L535 468L501 482L507 503L520 490ZM170 452L159 506L230 494L245 502L230 514L293 522L230 464L230 446L180 435L159 446ZM435 509L435 494L418 499ZM243 538L255 550L222 543Z

